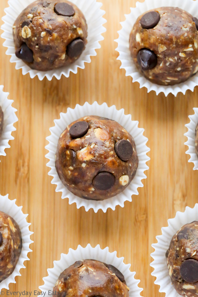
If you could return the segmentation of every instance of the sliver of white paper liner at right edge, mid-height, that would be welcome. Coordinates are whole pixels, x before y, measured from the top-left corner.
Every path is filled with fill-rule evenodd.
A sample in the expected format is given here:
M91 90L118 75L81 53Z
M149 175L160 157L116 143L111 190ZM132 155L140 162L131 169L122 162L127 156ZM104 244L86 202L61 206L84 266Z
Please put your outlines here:
M194 163L193 170L198 170L198 158L195 150L195 129L198 124L198 108L193 108L194 114L189 116L190 123L186 124L185 127L188 128L188 132L184 134L188 140L184 143L189 149L186 151L186 154L190 155L188 162Z

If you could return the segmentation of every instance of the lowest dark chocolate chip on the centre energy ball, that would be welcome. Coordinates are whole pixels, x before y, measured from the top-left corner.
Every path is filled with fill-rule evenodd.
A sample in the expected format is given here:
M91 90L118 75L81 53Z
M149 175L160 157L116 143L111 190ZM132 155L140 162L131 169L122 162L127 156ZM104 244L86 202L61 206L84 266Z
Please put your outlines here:
M112 173L109 172L100 172L98 173L93 180L94 188L105 191L113 187L115 184L115 177Z

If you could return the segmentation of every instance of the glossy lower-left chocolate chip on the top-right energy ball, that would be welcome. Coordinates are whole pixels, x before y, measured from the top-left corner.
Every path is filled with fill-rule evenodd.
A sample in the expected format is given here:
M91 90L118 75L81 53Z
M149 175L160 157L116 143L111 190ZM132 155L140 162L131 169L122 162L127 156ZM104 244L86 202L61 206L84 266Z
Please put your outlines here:
M137 54L137 61L141 66L142 70L149 70L157 65L157 56L148 48L142 48Z

